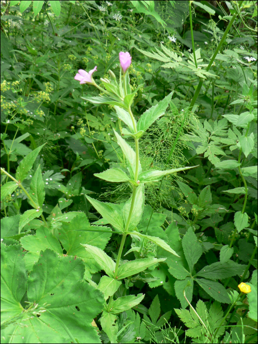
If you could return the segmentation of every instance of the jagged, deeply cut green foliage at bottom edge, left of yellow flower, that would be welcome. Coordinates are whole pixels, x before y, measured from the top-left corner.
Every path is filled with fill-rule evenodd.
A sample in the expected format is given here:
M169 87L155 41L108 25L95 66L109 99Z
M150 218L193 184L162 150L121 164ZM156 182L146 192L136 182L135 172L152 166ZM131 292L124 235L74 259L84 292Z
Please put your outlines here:
M221 326L216 334L216 338L213 337L224 315L220 303L214 302L210 306L209 311L207 311L204 302L199 300L196 305L196 312L201 317L206 328L191 308L190 311L175 309L175 313L188 327L188 330L185 332L186 336L193 338L192 343L217 343L216 338L222 336L225 332L225 327Z

